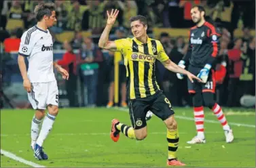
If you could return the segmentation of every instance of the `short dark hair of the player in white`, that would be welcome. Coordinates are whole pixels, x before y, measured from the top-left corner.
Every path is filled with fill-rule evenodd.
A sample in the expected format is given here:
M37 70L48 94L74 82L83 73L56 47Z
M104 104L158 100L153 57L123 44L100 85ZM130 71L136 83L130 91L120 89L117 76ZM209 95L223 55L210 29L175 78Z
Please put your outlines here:
M35 18L37 18L37 21L41 21L43 19L43 16L51 16L52 11L55 11L56 7L54 3L39 3L35 6Z

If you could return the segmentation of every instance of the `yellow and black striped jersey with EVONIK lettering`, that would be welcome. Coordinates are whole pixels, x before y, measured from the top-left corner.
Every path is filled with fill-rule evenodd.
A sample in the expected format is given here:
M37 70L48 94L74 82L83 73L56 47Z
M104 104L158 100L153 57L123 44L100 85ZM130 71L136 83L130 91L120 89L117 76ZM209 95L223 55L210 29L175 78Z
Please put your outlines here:
M147 37L147 43L142 43L134 37L115 40L115 45L124 56L128 98L147 98L160 91L155 62L169 59L160 41Z

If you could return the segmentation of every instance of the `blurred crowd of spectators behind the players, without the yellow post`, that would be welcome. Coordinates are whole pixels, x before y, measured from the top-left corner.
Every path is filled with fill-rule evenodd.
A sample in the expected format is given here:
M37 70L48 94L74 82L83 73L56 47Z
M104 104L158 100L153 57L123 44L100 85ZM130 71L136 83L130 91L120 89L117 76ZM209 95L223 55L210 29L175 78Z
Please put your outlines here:
M1 1L0 40L4 52L18 51L24 30L36 24L33 9L39 1ZM54 1L57 7L57 24L50 28L54 35L73 30L72 41L55 41L54 48L65 49L58 64L69 70L70 79L65 83L69 106L113 106L114 55L97 46L98 38L106 22L106 11L120 9L117 22L111 32L111 40L130 36L129 18L136 14L146 16L149 34L152 28L189 28L193 5L206 9L206 20L215 22L221 30L221 50L217 56L217 94L222 106L240 106L244 95L255 96L255 1ZM253 5L254 4L254 5ZM20 28L8 29L8 20L20 20ZM235 29L242 29L242 37L234 37ZM83 36L83 30L92 35ZM172 37L161 33L159 40L166 54L178 63L187 51L186 37ZM120 75L120 106L126 103L126 68L118 62ZM191 106L186 79L177 79L175 73L165 70L156 62L156 75L160 87L173 106ZM80 83L77 85L77 83ZM78 88L79 87L79 88ZM78 101L80 99L80 101ZM81 102L78 104L78 102Z

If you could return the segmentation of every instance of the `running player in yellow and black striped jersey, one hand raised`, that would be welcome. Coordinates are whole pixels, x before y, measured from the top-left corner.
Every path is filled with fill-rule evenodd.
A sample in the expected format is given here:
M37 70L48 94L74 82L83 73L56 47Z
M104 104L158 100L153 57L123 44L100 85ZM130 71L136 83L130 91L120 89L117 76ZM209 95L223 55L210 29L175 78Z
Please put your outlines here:
M164 121L167 127L167 165L185 165L177 160L176 151L179 144L179 133L174 117L175 112L156 82L156 59L160 60L168 70L187 75L191 82L193 82L193 79L202 81L170 61L160 41L147 36L147 19L144 16L130 18L130 27L134 35L132 39L126 38L109 41L109 32L115 23L118 12L117 9L112 9L110 14L107 12L107 25L100 36L98 46L111 51L120 51L124 56L132 127L120 123L117 119L113 119L111 138L114 142L117 142L121 131L130 139L145 139L147 136L145 116L147 111L151 110Z

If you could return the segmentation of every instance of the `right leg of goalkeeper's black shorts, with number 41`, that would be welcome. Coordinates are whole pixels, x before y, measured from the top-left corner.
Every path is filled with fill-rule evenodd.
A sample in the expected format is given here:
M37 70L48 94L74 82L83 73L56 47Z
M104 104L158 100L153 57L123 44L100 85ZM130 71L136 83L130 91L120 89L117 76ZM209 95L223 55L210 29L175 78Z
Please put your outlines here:
M215 70L209 72L209 76L206 83L202 83L202 92L215 93L216 81L215 81Z

